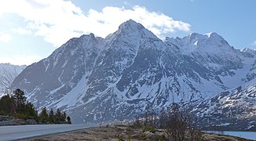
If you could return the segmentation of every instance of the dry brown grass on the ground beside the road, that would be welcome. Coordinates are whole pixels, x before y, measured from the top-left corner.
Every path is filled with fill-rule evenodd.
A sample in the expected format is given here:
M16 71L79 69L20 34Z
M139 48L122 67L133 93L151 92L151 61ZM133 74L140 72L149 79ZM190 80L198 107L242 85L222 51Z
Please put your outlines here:
M64 132L49 136L42 136L33 139L24 139L27 141L46 141L46 140L109 140L109 141L119 141L119 140L166 140L164 138L163 130L156 130L152 132L143 132L141 128L131 128L129 126L108 126L103 128L87 128L74 132ZM242 139L233 136L224 136L211 133L205 133L202 135L202 141L246 141L249 139Z

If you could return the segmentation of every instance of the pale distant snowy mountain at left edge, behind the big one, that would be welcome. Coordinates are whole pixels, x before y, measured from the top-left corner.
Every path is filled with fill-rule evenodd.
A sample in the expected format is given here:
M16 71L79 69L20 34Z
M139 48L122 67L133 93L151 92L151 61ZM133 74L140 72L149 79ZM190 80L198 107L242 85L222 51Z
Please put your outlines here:
M0 96L13 83L14 78L24 70L26 66L16 66L10 63L0 63Z

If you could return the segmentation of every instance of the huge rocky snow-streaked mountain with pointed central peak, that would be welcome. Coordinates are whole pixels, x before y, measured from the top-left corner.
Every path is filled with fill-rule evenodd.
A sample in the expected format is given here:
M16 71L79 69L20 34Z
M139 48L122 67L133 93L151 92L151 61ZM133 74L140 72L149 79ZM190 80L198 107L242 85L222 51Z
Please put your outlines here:
M130 118L170 103L199 103L254 86L256 52L220 35L160 40L128 20L106 38L72 38L28 66L10 89L24 89L38 107L62 108L74 123Z

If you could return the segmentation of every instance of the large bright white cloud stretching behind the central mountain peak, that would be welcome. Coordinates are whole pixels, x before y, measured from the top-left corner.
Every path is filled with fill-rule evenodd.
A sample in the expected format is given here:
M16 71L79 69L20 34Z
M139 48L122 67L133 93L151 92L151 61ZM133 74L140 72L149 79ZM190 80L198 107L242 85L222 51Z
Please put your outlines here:
M189 24L138 5L132 9L107 6L101 11L90 9L84 13L70 1L8 0L0 2L0 16L3 13L24 17L27 30L34 31L35 35L42 36L55 46L81 34L93 33L104 38L116 31L119 24L130 19L143 24L160 38L177 31L190 31Z

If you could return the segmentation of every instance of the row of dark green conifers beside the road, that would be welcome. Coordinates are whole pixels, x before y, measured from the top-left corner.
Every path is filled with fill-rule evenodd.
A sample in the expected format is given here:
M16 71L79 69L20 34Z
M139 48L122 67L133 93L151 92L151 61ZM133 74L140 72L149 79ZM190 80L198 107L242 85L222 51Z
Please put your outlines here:
M22 119L34 119L39 124L71 124L71 117L60 109L55 112L53 109L49 111L46 107L42 108L38 114L35 106L27 101L24 92L20 89L13 91L13 95L2 96L0 99L0 115L12 116Z

